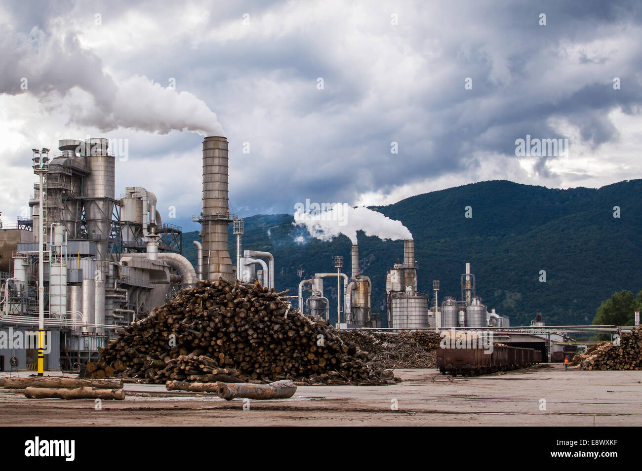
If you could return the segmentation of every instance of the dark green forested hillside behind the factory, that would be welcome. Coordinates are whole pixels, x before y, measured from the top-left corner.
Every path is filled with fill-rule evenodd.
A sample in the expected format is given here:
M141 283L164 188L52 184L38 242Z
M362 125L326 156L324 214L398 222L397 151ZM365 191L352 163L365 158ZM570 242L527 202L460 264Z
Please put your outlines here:
M511 325L528 325L535 313L548 325L589 324L600 302L615 291L638 293L642 281L642 180L600 189L548 189L504 180L480 182L420 194L394 205L373 207L410 229L419 262L419 290L429 293L441 281L440 299L460 298L460 275L471 262L477 295L489 310L510 316ZM465 218L471 206L473 217ZM613 217L619 206L621 217ZM272 252L278 289L296 294L299 281L334 271L343 255L349 273L351 243L311 239L289 214L245 218L243 249ZM295 243L295 237L304 243ZM183 234L184 254L196 263L192 241ZM385 313L385 275L403 259L402 241L359 234L361 273L373 283L372 311ZM230 255L236 237L230 227ZM297 270L304 273L299 277ZM540 282L540 270L546 282ZM325 282L336 319L336 281ZM383 315L385 318L385 315Z

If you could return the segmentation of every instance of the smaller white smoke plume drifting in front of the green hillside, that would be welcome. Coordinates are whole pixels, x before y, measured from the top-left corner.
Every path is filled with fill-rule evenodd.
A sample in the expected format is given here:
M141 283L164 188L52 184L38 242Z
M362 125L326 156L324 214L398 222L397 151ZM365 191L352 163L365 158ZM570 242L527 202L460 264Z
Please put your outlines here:
M365 235L376 236L382 240L412 239L410 230L401 221L395 221L380 212L368 209L365 206L353 208L347 203L334 203L324 205L318 203L295 205L294 223L306 227L313 237L322 241L329 241L340 234L346 235L357 244L357 231L362 230Z

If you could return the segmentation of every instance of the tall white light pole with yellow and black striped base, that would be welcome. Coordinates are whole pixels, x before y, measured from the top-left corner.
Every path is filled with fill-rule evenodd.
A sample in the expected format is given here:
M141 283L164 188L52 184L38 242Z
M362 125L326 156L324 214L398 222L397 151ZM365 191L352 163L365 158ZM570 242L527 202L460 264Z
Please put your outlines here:
M38 189L38 375L44 375L44 253L42 244L44 237L44 176L49 170L49 149L33 150L33 173L40 176Z

